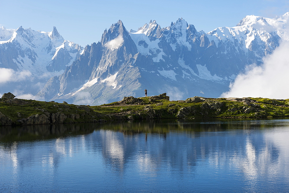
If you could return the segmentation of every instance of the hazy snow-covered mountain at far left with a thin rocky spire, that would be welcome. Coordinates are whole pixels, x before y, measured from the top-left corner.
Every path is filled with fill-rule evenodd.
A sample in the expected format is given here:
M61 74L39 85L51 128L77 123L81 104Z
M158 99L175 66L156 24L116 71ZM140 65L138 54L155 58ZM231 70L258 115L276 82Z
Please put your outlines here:
M0 28L0 93L37 94L47 80L64 72L83 48L64 40L56 27L51 32L22 26ZM16 91L17 90L17 91Z

